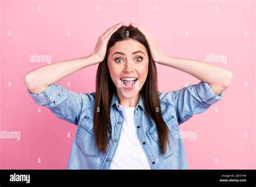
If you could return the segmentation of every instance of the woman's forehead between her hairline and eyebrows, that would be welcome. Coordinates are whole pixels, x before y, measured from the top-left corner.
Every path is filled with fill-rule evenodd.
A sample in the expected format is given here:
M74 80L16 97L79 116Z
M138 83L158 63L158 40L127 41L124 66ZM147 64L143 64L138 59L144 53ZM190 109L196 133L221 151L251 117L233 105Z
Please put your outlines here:
M131 54L134 51L142 51L146 54L146 48L143 44L140 44L137 40L134 39L127 39L127 40L122 40L122 41L117 41L116 44L114 44L110 48L110 54L118 51L118 52L123 52L125 54Z

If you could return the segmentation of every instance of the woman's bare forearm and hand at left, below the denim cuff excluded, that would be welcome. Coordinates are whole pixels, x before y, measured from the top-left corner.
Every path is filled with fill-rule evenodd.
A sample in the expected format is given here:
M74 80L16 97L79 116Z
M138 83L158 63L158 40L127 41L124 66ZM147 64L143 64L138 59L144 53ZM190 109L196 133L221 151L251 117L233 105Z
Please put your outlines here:
M100 35L95 50L87 57L56 62L30 71L24 76L26 87L32 93L38 94L48 88L50 84L54 84L82 68L102 62L106 55L107 42L111 35L123 25L124 22L113 25Z

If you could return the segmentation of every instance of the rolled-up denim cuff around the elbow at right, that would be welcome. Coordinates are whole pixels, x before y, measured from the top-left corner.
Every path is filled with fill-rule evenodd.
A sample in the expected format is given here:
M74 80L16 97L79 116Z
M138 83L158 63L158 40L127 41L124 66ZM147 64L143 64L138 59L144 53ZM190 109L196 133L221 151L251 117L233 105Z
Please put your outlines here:
M218 100L221 100L224 96L224 93L221 92L220 95L216 95L211 89L210 85L207 82L199 82L196 85L196 90L199 97L204 103L215 104Z

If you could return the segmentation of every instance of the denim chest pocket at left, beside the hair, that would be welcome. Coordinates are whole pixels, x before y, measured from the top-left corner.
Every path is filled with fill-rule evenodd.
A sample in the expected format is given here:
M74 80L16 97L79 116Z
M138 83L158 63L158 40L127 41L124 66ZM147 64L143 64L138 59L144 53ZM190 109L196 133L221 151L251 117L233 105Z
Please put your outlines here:
M97 157L99 150L95 143L93 119L85 116L78 125L76 145L85 156Z

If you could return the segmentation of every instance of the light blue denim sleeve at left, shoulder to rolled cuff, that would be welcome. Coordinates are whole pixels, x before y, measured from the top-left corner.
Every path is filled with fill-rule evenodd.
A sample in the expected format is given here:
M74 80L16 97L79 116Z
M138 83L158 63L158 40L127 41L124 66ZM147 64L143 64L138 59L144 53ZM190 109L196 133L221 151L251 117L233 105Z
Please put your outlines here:
M89 93L73 92L57 84L51 84L39 94L33 94L29 90L28 93L36 104L48 107L59 119L75 125L78 125L83 107L90 106L92 102Z

